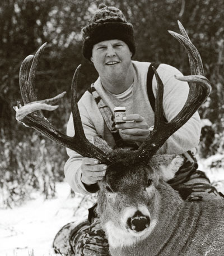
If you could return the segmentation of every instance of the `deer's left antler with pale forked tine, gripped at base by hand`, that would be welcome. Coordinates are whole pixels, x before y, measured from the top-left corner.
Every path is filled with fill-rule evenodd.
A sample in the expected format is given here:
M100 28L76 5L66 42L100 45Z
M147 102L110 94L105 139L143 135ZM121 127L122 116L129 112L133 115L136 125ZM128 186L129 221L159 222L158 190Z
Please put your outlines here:
M54 98L37 101L34 92L35 73L40 59L40 55L44 51L45 46L46 43L41 45L35 56L27 56L22 62L20 68L20 90L25 106L22 107L20 102L18 102L17 107L14 107L14 109L16 110L16 119L22 122L24 125L32 127L35 130L41 132L41 134L62 145L63 147L70 148L80 153L83 157L94 157L100 162L110 164L113 158L110 160L104 152L102 152L99 148L95 147L92 143L90 143L90 141L86 139L83 131L76 97L76 84L78 83L78 74L81 65L78 66L76 71L74 72L71 88L72 115L75 130L74 137L69 137L62 132L55 130L52 124L50 124L50 122L44 117L43 113L41 112L41 109L46 109L49 111L57 109L58 106L52 105L57 103L66 94L66 92L63 92ZM29 71L31 61L32 64Z

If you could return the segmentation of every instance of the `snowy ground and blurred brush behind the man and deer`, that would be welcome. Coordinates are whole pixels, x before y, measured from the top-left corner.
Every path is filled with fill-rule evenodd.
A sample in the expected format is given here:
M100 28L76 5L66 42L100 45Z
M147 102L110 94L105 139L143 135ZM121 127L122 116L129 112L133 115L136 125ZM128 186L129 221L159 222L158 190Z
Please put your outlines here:
M134 60L167 63L189 75L188 56L167 30L180 20L198 48L212 93L199 109L207 120L199 145L199 170L224 193L224 1L223 0L13 0L0 1L0 256L54 255L52 243L68 222L87 217L92 198L72 197L63 181L66 150L15 120L21 100L22 60L48 42L36 72L38 99L67 91L57 111L46 117L66 131L70 85L82 63L78 97L96 80L81 54L81 29L100 3L120 8L134 25ZM22 103L22 102L21 102Z

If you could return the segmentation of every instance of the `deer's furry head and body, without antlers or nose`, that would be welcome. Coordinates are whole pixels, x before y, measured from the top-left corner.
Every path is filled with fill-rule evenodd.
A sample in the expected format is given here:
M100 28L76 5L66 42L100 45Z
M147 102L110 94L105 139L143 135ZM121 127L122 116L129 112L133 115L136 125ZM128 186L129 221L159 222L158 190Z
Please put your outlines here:
M105 143L102 148L127 154L125 149L113 152ZM100 182L97 213L112 256L224 255L224 200L181 199L166 182L181 164L181 156L155 155L147 165L109 168ZM137 211L150 217L141 232L127 227Z

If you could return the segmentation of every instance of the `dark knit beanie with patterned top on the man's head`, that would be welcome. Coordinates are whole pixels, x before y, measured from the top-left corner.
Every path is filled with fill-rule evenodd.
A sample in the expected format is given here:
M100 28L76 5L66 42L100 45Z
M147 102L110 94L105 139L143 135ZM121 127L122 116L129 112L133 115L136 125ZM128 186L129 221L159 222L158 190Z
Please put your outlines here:
M118 39L128 45L133 56L136 52L133 32L133 25L127 22L122 11L101 3L87 26L82 29L82 54L90 61L94 44Z

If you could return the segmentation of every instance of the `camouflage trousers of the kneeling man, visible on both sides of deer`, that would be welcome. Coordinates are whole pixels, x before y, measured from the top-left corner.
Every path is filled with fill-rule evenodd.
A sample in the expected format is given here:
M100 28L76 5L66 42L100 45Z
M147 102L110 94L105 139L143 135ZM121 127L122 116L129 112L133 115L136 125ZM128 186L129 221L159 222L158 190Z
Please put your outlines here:
M185 162L169 184L184 200L220 199L221 194L211 185L208 177L197 170L198 164L191 152L184 154ZM94 209L94 207L93 207ZM94 210L91 212L94 213ZM57 253L75 256L109 256L109 245L100 221L94 214L79 225L68 223L54 239L53 248Z

